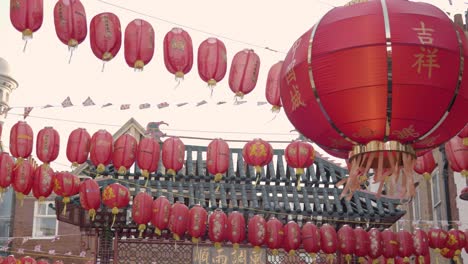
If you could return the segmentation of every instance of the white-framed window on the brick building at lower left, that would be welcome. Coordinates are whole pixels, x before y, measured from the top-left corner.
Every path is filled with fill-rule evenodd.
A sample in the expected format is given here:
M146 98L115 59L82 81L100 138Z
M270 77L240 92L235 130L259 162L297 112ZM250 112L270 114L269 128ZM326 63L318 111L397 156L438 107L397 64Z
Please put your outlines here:
M33 238L53 238L57 235L58 222L53 201L34 203Z

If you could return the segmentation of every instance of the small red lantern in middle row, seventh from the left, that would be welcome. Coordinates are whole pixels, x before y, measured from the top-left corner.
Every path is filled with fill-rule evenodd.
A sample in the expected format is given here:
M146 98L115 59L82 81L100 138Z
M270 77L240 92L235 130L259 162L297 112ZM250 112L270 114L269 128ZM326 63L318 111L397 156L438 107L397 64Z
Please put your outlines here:
M162 162L167 174L174 176L182 169L185 160L185 145L178 137L166 139L162 146Z

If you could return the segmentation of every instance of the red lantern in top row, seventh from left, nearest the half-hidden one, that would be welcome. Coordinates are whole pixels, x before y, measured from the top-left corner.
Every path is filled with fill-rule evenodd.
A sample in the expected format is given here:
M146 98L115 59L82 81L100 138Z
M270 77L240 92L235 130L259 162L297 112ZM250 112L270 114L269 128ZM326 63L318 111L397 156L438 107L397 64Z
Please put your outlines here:
M260 58L249 49L239 51L231 62L229 72L229 87L237 97L243 98L257 85L260 71Z

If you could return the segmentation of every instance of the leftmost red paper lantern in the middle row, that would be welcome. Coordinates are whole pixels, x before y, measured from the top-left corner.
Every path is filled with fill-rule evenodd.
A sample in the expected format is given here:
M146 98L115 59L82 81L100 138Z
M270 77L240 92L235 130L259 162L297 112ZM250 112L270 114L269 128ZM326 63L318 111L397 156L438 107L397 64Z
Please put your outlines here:
M32 153L34 135L32 128L24 121L18 121L10 131L10 152L17 163Z

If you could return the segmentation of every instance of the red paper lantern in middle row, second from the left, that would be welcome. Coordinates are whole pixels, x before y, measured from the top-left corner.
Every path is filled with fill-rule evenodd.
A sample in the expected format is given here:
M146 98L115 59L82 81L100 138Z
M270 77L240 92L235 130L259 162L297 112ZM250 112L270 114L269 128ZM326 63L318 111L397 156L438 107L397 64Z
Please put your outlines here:
M45 127L37 134L36 155L40 161L49 164L58 157L60 136L52 127Z

